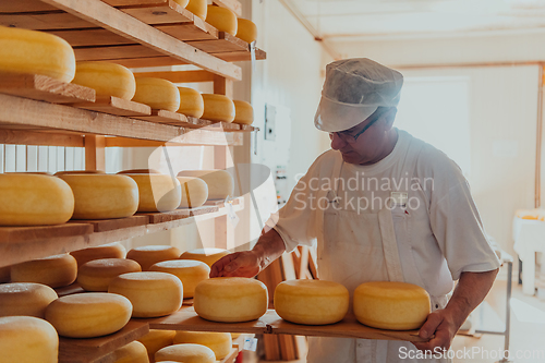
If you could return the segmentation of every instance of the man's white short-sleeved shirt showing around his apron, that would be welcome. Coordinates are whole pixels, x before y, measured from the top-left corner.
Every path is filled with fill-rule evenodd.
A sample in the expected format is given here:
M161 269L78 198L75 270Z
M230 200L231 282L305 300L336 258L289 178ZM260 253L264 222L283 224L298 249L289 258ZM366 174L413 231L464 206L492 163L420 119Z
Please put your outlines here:
M275 229L287 251L312 245L322 228L316 213L320 190L335 190L344 210L378 213L397 205L392 217L403 271L416 274L432 295L444 295L461 273L494 270L500 264L487 242L460 168L405 131L398 130L398 135L393 150L383 160L370 166L344 162L337 189L332 168L340 153L328 150L320 155L280 209ZM412 161L405 162L409 158ZM404 198L397 194L392 204L391 192L399 190L407 194ZM403 222L408 225L402 229L397 228L397 214L405 214ZM409 258L414 263L408 264Z

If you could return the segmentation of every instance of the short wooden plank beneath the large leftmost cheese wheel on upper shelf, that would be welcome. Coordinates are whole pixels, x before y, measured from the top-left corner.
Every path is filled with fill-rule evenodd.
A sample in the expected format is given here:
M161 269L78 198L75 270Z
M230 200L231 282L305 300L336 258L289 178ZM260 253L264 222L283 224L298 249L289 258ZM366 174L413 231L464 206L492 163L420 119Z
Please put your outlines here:
M95 100L95 89L40 74L0 72L0 93L52 104Z

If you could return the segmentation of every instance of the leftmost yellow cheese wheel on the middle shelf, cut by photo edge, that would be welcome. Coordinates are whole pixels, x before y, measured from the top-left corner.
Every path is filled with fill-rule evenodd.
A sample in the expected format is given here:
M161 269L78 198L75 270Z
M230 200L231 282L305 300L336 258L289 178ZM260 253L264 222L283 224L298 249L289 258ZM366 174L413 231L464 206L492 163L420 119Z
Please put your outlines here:
M0 174L0 226L47 226L66 222L74 211L74 194L58 178Z

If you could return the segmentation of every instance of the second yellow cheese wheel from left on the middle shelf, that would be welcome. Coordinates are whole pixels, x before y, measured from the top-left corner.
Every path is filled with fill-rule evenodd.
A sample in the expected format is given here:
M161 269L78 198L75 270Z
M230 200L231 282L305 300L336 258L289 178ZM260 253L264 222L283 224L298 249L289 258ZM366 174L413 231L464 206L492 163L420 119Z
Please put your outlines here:
M129 177L65 174L59 178L74 193L74 219L124 218L138 208L138 186Z

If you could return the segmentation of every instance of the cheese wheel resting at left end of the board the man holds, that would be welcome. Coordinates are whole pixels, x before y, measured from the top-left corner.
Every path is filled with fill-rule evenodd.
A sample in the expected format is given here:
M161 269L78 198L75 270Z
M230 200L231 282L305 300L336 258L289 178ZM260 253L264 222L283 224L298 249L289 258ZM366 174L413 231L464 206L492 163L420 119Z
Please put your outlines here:
M157 317L182 307L182 281L171 274L131 273L116 277L108 292L119 293L133 304L134 317Z

